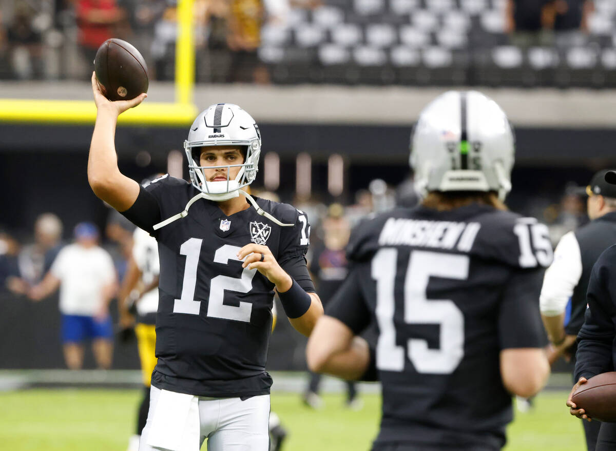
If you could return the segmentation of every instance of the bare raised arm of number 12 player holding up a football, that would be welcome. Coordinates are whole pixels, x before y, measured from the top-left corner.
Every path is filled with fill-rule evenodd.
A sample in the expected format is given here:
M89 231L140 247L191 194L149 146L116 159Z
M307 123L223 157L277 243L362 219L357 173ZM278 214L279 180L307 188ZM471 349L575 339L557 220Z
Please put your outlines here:
M118 169L115 128L118 116L129 108L139 105L147 94L140 94L132 100L111 102L100 91L94 73L92 73L92 92L97 113L87 161L87 179L97 197L116 210L125 211L137 199L139 184L124 176Z

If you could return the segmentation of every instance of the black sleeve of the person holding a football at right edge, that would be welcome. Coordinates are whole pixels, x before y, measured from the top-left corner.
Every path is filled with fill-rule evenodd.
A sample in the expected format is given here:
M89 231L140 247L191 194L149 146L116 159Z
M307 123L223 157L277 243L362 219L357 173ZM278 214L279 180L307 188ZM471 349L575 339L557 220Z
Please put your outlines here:
M586 292L588 308L578 334L578 349L575 354L575 380L581 376L588 379L600 373L614 371L612 343L616 331L612 317L616 299L615 259L616 252L612 246L601 254L590 275Z

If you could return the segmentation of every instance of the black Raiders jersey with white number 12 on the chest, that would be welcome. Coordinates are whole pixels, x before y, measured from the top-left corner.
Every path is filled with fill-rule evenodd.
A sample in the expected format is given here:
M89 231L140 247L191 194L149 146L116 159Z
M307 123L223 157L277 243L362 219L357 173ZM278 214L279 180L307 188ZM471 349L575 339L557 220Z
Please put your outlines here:
M227 217L216 202L200 199L188 216L153 231L197 194L186 181L163 176L123 213L158 240L158 363L152 384L198 396L267 394L274 284L256 269L243 269L237 253L249 243L266 245L304 290L314 291L306 267L306 215L256 198L279 221L294 224L280 227L252 207Z

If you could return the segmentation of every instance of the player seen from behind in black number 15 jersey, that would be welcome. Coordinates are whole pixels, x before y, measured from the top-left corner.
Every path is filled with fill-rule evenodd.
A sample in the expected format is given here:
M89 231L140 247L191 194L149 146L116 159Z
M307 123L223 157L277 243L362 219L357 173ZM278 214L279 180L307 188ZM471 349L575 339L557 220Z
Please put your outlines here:
M511 395L546 381L538 298L548 229L506 210L514 140L479 92L419 116L411 166L423 203L354 230L351 273L310 336L312 370L383 384L378 451L499 450ZM359 338L378 325L376 349Z

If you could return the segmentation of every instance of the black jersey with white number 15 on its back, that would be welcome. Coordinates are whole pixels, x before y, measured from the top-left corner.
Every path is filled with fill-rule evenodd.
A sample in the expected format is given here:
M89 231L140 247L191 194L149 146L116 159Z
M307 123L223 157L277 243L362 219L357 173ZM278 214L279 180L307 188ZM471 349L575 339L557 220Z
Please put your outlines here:
M481 205L396 209L360 224L348 257L326 314L357 335L378 326L375 443L500 449L512 418L500 351L546 343L547 227Z

